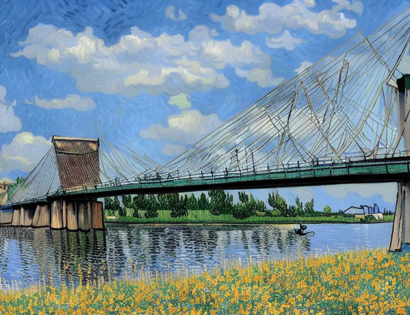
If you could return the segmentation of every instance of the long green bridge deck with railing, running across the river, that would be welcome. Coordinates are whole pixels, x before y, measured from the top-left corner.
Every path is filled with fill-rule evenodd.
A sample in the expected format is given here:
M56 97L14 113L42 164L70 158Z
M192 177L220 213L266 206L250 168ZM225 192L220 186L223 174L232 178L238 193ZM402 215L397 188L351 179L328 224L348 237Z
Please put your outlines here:
M378 158L280 169L226 174L192 175L184 178L145 179L127 184L102 183L71 191L58 191L46 198L25 200L32 204L56 199L84 199L132 193L166 193L207 189L255 189L346 183L395 182L409 178L410 157Z

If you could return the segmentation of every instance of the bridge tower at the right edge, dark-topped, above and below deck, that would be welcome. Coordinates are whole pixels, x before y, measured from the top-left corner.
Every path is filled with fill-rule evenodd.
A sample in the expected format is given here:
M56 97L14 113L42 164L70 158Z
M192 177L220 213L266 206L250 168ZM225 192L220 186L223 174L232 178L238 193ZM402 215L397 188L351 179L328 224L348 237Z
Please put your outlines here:
M397 80L398 104L398 137L403 137L404 148L410 156L410 74L404 74ZM402 243L410 243L410 179L397 184L397 200L389 250L400 252Z

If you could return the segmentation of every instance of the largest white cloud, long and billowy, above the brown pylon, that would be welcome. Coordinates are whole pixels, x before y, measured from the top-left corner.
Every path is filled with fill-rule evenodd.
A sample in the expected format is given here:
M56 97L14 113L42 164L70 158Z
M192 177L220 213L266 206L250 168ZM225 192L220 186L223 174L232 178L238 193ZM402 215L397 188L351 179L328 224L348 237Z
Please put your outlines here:
M273 77L272 58L260 47L247 40L239 46L229 39L215 40L206 26L196 26L188 40L180 34L154 37L133 27L131 34L105 46L89 27L74 34L38 24L19 44L23 48L10 54L12 57L24 56L49 69L67 72L84 92L134 97L224 89L230 82L220 70L227 65L252 82L277 85L283 81ZM255 71L265 78L255 81Z

